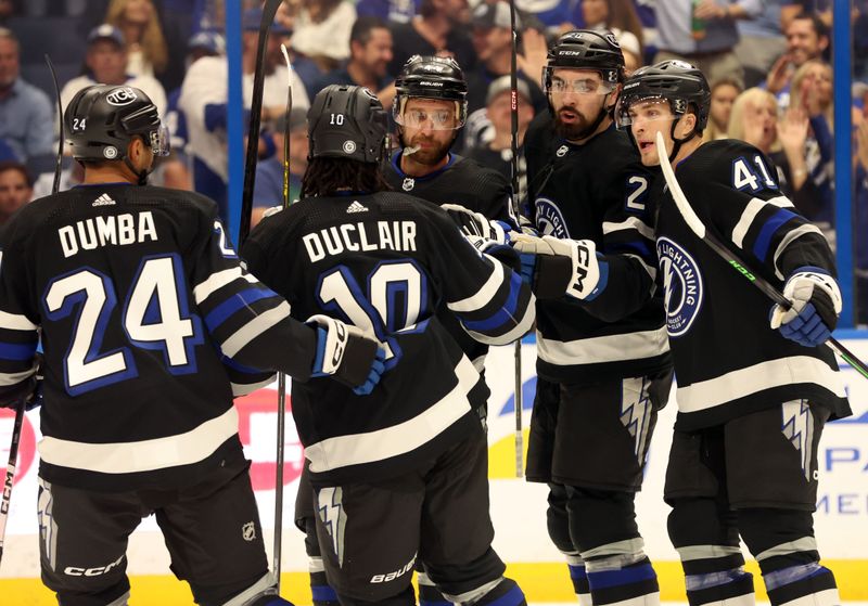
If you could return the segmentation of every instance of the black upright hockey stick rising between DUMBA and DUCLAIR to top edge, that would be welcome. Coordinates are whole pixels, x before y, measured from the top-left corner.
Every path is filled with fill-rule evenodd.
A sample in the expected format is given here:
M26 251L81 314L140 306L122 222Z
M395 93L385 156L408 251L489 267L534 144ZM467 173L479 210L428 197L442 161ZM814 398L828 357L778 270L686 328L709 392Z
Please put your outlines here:
M251 99L251 124L247 128L247 152L244 156L244 190L241 194L241 222L238 230L238 246L244 244L251 232L253 212L253 189L256 184L256 158L259 150L259 125L263 113L263 87L265 81L265 46L268 30L283 0L266 0L263 5L263 21L259 23L259 40L256 43L256 67L253 74L253 96Z

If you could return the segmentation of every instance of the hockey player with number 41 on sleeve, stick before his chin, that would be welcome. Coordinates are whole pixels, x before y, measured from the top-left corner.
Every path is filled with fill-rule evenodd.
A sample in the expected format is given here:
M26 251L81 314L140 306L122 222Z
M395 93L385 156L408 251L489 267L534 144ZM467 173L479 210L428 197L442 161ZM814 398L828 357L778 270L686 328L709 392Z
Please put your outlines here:
M813 524L822 427L851 414L838 364L821 345L841 311L833 257L781 195L758 150L702 142L710 98L700 70L666 61L627 80L618 119L642 164L656 166L666 154L706 228L778 285L792 308L769 310L765 295L701 242L661 193L656 250L678 376L664 490L669 538L693 606L754 603L739 534L773 606L841 604L832 572L819 564Z

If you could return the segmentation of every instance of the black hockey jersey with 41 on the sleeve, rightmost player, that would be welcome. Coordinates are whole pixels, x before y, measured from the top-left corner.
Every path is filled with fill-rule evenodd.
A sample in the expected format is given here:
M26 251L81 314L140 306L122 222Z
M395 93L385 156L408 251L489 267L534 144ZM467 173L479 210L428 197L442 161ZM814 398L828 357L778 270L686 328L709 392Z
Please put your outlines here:
M709 232L779 289L801 267L834 273L826 238L780 193L755 147L705 143L676 176ZM668 191L663 196L656 249L678 377L676 427L718 425L802 398L828 407L832 418L851 414L831 350L771 330L768 297L690 231Z

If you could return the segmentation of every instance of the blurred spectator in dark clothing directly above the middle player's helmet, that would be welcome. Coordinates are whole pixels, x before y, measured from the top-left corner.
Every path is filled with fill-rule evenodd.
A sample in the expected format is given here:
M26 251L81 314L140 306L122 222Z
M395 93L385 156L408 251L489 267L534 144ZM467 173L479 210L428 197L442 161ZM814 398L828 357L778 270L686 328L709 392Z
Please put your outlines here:
M452 56L467 73L475 64L467 30L468 0L422 0L419 14L409 23L392 25L392 63L388 74L397 78L414 54Z

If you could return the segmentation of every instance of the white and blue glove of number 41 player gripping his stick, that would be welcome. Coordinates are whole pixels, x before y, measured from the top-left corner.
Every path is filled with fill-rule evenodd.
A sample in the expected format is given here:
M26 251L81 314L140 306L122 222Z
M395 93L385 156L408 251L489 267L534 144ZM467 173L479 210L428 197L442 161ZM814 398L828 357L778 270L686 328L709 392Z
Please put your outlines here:
M834 279L820 268L799 268L783 285L783 296L792 307L773 307L771 327L805 347L826 343L838 324L842 307L841 291Z

